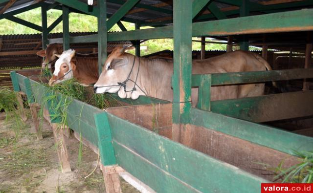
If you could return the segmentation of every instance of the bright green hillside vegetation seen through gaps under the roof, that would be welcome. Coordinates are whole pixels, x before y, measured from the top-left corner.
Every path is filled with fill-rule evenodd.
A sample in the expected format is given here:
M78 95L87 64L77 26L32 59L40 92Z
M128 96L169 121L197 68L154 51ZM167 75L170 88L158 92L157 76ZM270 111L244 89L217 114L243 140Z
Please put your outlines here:
M48 26L53 23L59 16L62 15L62 11L51 9L47 12ZM21 14L16 15L25 21L30 21L37 25L41 25L41 8L36 8ZM128 30L134 30L134 24L123 22ZM40 33L37 30L28 28L24 25L3 19L0 20L0 35L7 34L34 34ZM97 31L97 19L93 16L70 13L69 14L69 30L71 32L90 32ZM110 31L121 31L117 25L114 25ZM60 22L51 33L62 32L62 22ZM200 40L200 38L193 38L194 40ZM142 49L141 54L146 55L161 51L164 49L173 50L173 39L160 39L160 40L149 40L141 43ZM193 42L193 50L201 50L201 43ZM225 50L225 44L212 44L207 43L205 46L206 50Z

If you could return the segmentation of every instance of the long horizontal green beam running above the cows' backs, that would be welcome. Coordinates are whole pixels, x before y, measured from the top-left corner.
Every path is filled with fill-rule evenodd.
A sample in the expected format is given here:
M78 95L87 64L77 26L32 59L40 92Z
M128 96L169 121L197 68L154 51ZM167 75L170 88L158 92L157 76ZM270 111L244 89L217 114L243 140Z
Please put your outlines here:
M313 30L313 17L309 17L310 15L313 15L313 9L248 16L221 21L196 22L192 25L192 36L225 36L271 32L310 31ZM173 38L173 26L114 32L108 34L109 42L161 38ZM71 43L86 42L97 42L97 35L71 38Z

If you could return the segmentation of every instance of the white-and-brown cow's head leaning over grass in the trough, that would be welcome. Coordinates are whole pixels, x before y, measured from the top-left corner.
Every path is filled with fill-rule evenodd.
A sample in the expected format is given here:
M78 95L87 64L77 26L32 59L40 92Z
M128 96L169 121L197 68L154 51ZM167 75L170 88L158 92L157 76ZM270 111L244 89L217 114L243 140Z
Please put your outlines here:
M76 65L72 60L75 56L75 50L69 49L61 55L55 54L59 59L55 62L55 69L52 78L49 80L49 86L61 83L73 77L73 71L76 70Z

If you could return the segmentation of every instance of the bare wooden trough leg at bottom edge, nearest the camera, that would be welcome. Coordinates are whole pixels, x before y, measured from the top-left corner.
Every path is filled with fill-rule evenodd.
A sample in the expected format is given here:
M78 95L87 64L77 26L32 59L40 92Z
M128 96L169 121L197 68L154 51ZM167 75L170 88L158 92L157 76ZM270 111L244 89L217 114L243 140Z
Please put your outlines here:
M100 164L103 173L106 193L122 193L118 172L120 167L117 165L103 166Z

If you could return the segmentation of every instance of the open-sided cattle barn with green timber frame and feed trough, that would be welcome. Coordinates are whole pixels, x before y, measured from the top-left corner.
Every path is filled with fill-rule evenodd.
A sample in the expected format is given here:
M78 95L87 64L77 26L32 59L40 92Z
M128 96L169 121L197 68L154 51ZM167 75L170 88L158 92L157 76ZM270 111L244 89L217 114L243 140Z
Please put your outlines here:
M37 7L41 26L14 16ZM48 38L48 29L56 25L47 26L49 9L62 10L62 38ZM0 0L0 10L0 19L41 31L43 48L97 43L99 72L110 42L131 41L140 57L140 41L173 38L173 75L167 80L171 102L106 93L125 106L103 110L73 99L67 108L69 128L100 156L107 193L121 192L119 176L148 192L258 193L262 183L273 182L268 166L290 168L299 163L295 150L313 150L312 0ZM97 17L98 32L71 36L71 12ZM135 30L121 21L134 23ZM108 33L116 23L122 31ZM201 37L200 59L206 58L205 44L214 43L205 37L215 38L227 45L226 52L262 48L273 70L192 74L192 37ZM273 60L273 54L281 57ZM10 74L14 91L26 94L30 107L46 105L45 119L56 141L61 139L64 132L56 129L61 120L52 119L61 112L41 100L46 86L29 75ZM215 86L260 83L272 91L211 100ZM198 88L196 107L192 88ZM66 140L57 150L62 172L71 171Z

